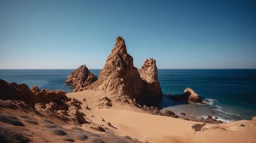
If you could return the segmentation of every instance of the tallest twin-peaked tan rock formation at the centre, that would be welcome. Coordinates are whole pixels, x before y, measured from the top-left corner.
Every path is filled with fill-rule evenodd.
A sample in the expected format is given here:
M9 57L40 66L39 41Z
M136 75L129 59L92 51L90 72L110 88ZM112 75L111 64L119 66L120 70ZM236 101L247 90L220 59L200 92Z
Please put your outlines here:
M105 66L99 73L99 79L84 89L104 90L117 100L128 103L149 97L162 97L155 60L147 59L140 73L141 75L133 66L133 58L127 53L124 39L118 36Z

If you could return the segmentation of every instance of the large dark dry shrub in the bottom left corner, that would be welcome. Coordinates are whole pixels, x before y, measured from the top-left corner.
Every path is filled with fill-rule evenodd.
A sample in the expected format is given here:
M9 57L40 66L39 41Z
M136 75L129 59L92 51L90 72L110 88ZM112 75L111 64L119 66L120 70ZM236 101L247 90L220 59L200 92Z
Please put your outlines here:
M30 140L13 128L0 126L0 141L1 143L28 143Z

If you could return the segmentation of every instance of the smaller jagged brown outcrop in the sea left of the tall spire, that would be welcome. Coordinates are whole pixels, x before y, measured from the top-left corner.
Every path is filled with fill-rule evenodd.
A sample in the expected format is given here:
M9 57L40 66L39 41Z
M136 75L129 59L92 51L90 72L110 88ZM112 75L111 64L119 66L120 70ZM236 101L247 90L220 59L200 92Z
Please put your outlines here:
M65 81L65 84L72 84L73 92L83 91L85 86L97 81L97 76L88 70L85 65L79 66L71 72Z

